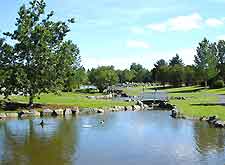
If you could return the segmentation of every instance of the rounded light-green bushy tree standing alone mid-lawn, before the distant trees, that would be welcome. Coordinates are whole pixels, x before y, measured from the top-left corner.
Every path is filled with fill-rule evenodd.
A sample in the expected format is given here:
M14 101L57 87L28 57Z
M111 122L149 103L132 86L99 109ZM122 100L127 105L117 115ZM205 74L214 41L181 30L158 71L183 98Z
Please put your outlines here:
M102 93L107 87L118 83L119 78L113 66L101 66L89 72L89 80Z

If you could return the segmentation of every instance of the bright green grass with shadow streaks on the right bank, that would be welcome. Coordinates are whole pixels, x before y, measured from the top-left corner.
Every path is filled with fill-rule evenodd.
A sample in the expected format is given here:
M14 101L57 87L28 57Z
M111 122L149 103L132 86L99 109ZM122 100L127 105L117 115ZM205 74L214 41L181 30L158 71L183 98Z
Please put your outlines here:
M218 105L218 97L210 94L225 94L225 89L202 89L197 86L170 88L165 91L169 96L183 96L185 100L170 100L187 116L201 117L217 115L225 120L225 106Z

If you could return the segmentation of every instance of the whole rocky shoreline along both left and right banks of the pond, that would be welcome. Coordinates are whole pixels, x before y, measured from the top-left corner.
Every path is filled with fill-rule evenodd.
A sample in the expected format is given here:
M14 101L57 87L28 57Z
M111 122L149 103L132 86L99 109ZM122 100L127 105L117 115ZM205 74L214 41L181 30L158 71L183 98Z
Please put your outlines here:
M197 117L186 117L182 114L175 105L169 103L159 106L160 110L168 109L171 111L171 117L174 119L188 119L188 120L199 120L208 122L210 125L215 128L225 128L225 121L220 120L217 116L202 116ZM26 117L57 117L57 116L76 116L79 114L95 114L95 113L104 113L104 112L122 112L122 111L144 111L152 110L152 107L149 107L146 104L143 104L141 101L137 101L135 105L131 106L114 106L110 108L46 108L41 111L37 110L21 110L18 112L0 112L0 120L19 118L23 119Z

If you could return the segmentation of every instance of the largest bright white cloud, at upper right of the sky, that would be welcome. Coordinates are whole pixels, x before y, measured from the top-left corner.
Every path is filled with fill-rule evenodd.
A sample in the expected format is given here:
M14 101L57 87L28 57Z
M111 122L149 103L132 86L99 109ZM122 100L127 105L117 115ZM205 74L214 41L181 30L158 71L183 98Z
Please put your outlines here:
M170 18L165 22L149 24L146 28L154 31L190 31L199 29L202 25L203 18L198 13L193 13L187 16L177 16Z

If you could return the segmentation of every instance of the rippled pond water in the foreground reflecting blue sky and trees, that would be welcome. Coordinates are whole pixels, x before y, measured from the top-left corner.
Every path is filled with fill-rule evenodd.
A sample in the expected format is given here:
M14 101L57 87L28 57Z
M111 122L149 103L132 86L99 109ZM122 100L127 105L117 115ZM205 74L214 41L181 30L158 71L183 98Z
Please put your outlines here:
M0 121L0 164L225 164L225 130L169 112ZM100 120L104 124L99 124Z

